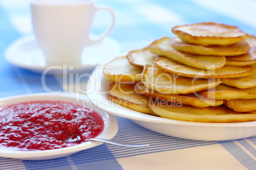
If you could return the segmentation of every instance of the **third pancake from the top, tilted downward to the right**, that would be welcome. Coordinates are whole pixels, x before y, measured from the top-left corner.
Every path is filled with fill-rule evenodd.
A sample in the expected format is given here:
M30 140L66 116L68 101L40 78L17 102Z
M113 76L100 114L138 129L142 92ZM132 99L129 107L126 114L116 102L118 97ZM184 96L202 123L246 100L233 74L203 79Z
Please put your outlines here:
M152 42L147 49L152 53L160 56L166 56L176 62L195 67L197 69L215 70L220 69L225 65L225 56L204 56L193 55L176 51L171 45L171 38L163 37L157 41Z

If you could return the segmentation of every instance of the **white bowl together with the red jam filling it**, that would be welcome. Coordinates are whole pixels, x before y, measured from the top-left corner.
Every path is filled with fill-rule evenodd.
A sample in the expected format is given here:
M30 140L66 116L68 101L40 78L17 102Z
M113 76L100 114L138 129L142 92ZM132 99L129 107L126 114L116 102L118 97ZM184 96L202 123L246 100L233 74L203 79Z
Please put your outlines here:
M89 138L117 134L115 116L84 95L37 93L0 100L0 157L41 160L64 157L100 145ZM78 143L69 142L79 138Z

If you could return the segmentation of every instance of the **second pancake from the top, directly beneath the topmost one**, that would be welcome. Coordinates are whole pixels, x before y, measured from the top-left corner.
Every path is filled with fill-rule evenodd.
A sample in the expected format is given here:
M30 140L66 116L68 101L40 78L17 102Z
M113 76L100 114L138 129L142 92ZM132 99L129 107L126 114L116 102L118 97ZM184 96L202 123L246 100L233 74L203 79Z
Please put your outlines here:
M175 37L171 39L170 45L178 51L195 55L236 56L248 53L250 50L250 45L247 41L239 41L227 46L199 46L188 44L187 42L182 41L179 37Z

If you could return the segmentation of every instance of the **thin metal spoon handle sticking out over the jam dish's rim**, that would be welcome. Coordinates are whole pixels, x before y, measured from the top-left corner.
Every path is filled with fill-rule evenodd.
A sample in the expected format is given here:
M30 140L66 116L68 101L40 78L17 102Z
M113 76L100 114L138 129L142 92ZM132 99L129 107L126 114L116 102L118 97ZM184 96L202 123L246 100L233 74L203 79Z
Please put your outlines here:
M106 139L100 139L100 138L91 138L88 139L87 141L101 141L104 143L110 143L112 145L119 145L119 146L123 146L123 147L148 147L149 144L136 144L136 143L128 143L125 141L117 141L117 140L106 140Z

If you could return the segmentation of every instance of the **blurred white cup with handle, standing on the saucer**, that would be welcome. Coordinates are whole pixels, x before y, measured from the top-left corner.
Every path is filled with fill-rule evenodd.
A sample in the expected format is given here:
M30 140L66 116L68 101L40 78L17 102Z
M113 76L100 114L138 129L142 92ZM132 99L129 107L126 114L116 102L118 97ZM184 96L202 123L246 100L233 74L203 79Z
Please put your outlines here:
M92 20L99 10L109 11L112 20L103 36L93 40ZM83 49L108 36L115 22L113 11L96 7L94 0L32 0L31 17L36 41L48 65L81 62Z

